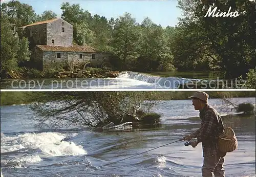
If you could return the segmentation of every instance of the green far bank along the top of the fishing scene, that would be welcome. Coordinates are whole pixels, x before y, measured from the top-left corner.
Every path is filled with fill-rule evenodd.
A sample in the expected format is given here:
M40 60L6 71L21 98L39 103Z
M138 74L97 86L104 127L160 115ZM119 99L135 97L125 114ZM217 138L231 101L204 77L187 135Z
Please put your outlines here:
M138 92L141 94L151 93L153 100L187 100L195 92ZM1 92L1 106L13 104L29 104L32 102L34 95L46 94L46 92ZM255 97L255 92L207 92L209 98L247 98Z

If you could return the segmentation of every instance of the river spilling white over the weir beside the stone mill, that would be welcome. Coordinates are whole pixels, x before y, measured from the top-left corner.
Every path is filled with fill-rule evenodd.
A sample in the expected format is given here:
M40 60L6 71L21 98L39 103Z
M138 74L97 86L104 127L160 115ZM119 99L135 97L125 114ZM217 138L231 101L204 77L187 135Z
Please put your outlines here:
M155 74L161 75L156 76ZM168 76L170 75L170 76ZM177 76L173 76L177 75ZM212 80L214 79L214 80ZM230 80L209 76L209 73L136 73L123 72L116 78L37 78L7 79L1 89L237 89ZM242 83L243 84L243 83Z

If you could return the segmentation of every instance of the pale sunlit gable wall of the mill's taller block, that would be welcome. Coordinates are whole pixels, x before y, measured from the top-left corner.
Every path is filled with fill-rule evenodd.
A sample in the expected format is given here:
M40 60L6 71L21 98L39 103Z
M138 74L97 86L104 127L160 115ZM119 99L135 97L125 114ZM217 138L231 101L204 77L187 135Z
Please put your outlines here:
M62 29L64 28L64 32ZM52 42L54 40L54 43ZM73 41L73 26L62 19L47 24L48 46L71 46Z

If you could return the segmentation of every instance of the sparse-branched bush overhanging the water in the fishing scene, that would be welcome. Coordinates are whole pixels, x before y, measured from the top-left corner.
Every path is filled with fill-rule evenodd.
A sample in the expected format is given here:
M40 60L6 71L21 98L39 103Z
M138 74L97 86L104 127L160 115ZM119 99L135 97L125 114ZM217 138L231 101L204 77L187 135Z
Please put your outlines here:
M91 129L111 122L139 121L156 104L147 92L48 92L33 96L31 101L33 119L40 127L78 125Z

